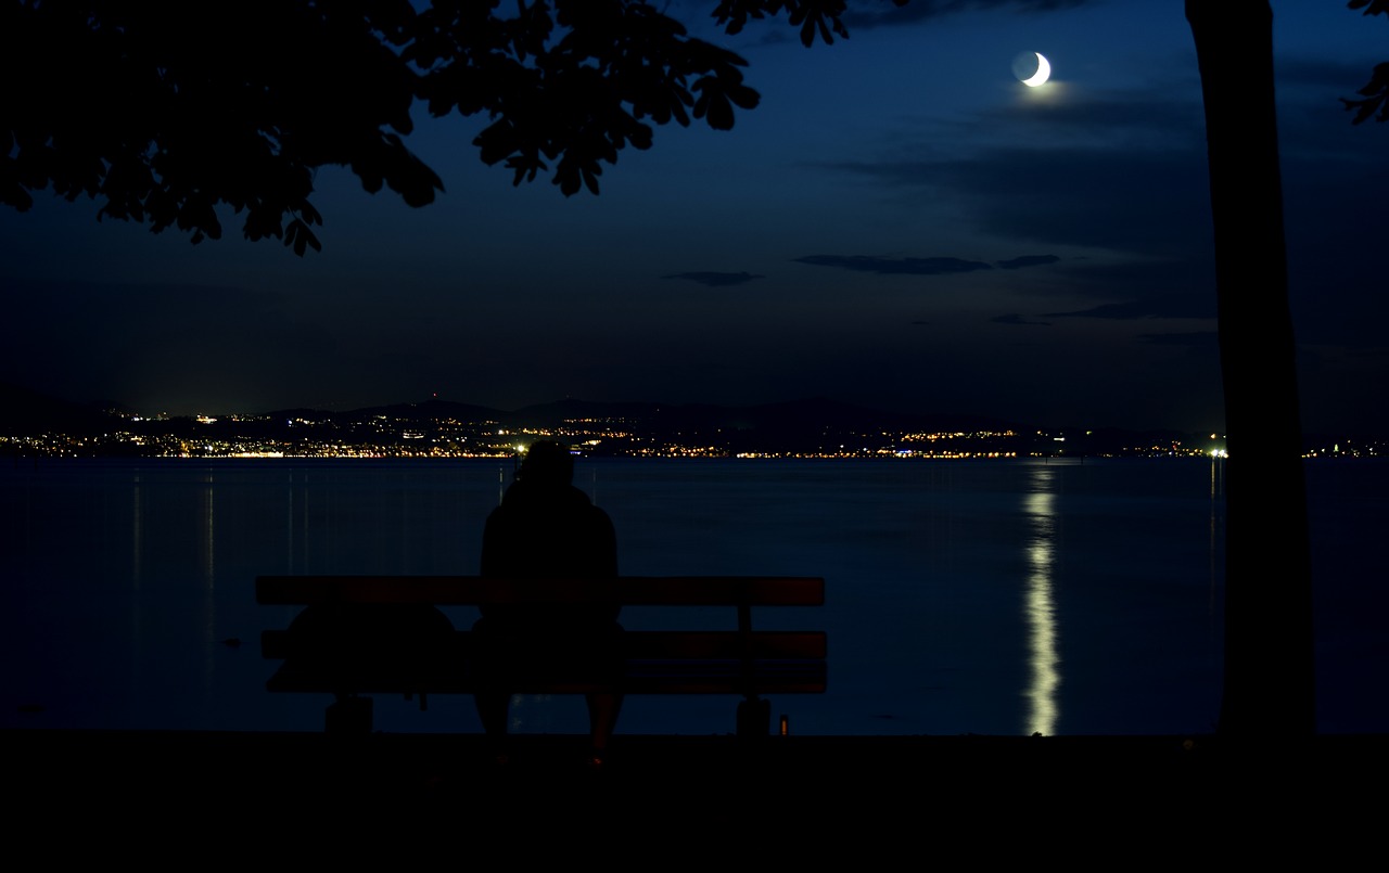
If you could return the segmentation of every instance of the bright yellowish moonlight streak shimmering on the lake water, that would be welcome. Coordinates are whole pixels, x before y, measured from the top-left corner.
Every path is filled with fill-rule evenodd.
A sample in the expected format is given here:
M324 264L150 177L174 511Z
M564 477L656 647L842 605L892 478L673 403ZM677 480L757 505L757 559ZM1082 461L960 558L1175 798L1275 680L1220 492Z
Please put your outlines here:
M1051 565L1056 544L1056 494L1053 473L1047 466L1032 471L1029 493L1024 497L1024 512L1029 518L1028 539L1028 586L1025 612L1028 622L1029 656L1032 661L1032 681L1024 697L1028 698L1026 731L1029 734L1053 734L1060 718L1056 694L1061 686L1057 655L1056 601L1051 595Z

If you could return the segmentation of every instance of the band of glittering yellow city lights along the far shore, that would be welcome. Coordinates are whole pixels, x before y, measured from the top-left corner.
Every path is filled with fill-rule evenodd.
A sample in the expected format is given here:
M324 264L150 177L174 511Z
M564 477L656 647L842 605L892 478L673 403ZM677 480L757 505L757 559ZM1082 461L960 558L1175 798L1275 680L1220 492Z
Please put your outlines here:
M147 422L158 422L149 425ZM215 422L218 427L207 425ZM215 434L215 436L213 436ZM1206 458L1225 459L1225 437L1199 434L1150 439L1139 433L1013 429L914 430L870 426L822 427L776 434L779 444L756 432L720 427L717 422L678 427L639 418L599 415L550 423L514 423L457 415L367 414L356 419L306 414L290 419L222 415L150 418L121 415L100 434L64 433L35 421L28 432L0 432L0 457L201 457L201 458L518 458L533 440L557 440L571 452L631 458ZM1325 439L1310 443L1304 458L1383 458L1389 441Z

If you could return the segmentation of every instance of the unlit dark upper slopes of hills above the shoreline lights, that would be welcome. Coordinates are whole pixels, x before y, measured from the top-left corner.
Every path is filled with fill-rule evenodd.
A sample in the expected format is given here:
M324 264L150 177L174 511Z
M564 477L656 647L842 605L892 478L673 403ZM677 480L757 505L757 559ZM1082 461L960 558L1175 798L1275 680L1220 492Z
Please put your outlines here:
M304 429L293 425L296 419L315 422L318 427ZM331 440L344 444L438 439L457 447L468 440L478 440L481 433L494 434L488 422L496 422L504 429L551 432L561 430L568 422L568 432L625 433L626 436L603 440L601 451L614 452L663 443L718 447L728 452L833 454L840 450L864 452L896 446L899 437L913 433L972 434L961 437L968 441L971 452L999 450L1040 454L1064 451L1081 455L1133 454L1163 451L1167 446L1195 446L1208 441L1204 434L1183 434L1175 430L1136 433L1107 427L1067 427L1047 429L1046 434L1039 434L1038 429L1029 425L996 418L888 412L826 397L746 407L565 398L513 411L432 398L336 412L289 408L249 416L224 411L217 422L194 422L190 418L144 422L126 418L117 422L92 405L74 404L0 382L0 436L32 437L44 433L92 436L133 430L150 439L215 436L228 440L281 443ZM588 423L575 426L579 422ZM113 425L119 426L113 427ZM979 436L1006 432L1017 436ZM910 436L907 439L910 441ZM943 443L936 446L945 447Z

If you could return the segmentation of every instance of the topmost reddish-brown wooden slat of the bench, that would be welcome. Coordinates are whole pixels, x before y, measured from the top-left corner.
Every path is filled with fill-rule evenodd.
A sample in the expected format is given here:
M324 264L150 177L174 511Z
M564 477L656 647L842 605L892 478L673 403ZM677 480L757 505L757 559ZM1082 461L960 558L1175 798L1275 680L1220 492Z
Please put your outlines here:
M486 576L257 576L256 602L313 604L622 604L631 607L820 607L817 576L618 576L497 579Z

